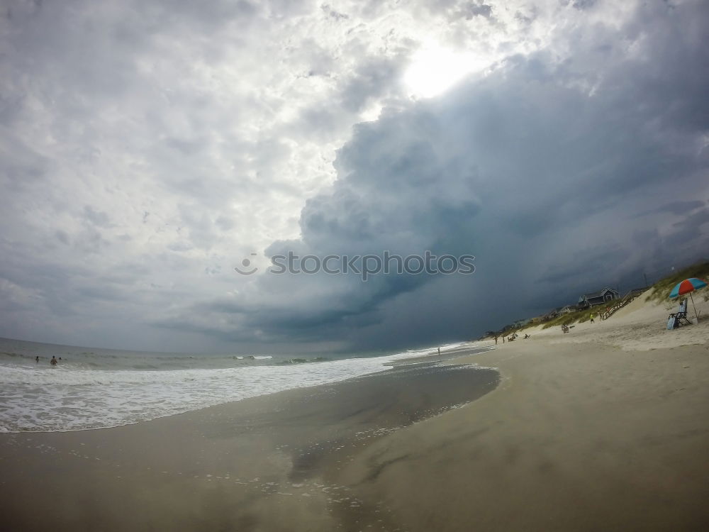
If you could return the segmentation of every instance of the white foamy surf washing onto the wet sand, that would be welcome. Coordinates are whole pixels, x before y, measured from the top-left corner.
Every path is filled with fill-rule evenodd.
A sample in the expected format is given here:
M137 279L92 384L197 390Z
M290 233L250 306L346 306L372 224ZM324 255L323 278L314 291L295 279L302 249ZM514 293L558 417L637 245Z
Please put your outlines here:
M0 431L74 431L137 423L381 372L391 362L430 351L312 364L283 364L266 355L259 358L268 365L187 370L86 370L6 362L0 365Z

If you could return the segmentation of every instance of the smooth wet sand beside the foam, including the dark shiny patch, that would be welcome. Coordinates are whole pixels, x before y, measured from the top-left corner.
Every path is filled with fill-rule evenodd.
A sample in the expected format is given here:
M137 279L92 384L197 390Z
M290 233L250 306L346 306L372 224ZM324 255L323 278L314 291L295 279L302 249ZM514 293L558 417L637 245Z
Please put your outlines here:
M0 434L3 521L23 531L395 530L386 506L338 482L342 468L498 378L397 367L132 426Z

